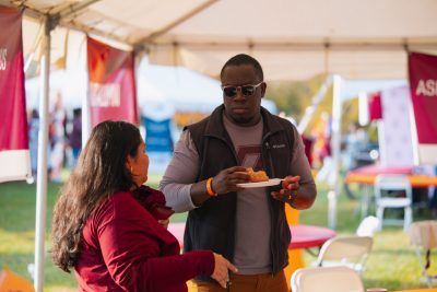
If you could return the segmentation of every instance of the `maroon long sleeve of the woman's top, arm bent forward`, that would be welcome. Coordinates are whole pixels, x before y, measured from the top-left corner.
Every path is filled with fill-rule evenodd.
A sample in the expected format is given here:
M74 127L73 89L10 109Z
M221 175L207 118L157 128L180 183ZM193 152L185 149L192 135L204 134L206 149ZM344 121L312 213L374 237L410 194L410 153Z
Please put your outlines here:
M162 256L168 234L145 211L123 201L125 209L98 227L102 256L114 281L123 291L169 291L198 275L211 275L214 256L209 250Z

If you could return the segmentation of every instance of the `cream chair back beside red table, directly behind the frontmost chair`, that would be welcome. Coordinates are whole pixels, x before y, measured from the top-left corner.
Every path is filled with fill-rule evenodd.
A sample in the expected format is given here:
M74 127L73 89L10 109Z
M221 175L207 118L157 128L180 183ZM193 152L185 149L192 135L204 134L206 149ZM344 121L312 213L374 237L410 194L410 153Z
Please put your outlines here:
M336 236L326 242L312 266L345 266L358 273L365 270L374 240L370 236Z

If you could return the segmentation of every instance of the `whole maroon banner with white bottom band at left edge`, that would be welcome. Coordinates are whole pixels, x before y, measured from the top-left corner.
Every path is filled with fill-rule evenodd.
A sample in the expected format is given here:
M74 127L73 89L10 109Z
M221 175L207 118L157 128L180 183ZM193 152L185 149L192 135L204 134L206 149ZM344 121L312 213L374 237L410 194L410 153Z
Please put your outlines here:
M24 91L22 13L0 7L0 183L32 177Z

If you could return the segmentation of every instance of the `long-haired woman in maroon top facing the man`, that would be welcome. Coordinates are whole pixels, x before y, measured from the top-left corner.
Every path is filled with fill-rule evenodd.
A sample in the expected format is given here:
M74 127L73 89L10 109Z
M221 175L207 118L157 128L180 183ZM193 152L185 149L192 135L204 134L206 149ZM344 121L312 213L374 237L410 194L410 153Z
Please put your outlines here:
M131 124L104 121L93 129L55 206L55 264L74 268L80 291L187 291L186 281L198 275L225 287L228 269L236 268L209 250L179 255L177 240L144 206L163 198L141 187L144 151Z

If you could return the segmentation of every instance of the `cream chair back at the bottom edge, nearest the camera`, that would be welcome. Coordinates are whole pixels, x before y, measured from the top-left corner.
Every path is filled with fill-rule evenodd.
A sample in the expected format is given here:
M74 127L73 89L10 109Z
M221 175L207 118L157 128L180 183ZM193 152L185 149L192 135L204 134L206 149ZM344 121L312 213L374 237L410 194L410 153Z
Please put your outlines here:
M359 275L347 267L303 268L292 276L293 292L364 292Z

